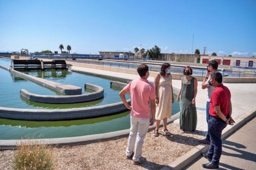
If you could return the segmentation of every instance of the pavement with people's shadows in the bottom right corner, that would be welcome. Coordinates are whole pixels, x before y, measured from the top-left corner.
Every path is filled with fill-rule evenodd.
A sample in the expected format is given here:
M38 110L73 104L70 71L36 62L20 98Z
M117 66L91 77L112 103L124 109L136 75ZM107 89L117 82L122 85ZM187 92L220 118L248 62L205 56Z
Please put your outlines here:
M222 141L222 156L219 169L255 169L256 168L256 117L241 129ZM208 161L202 156L184 169L204 169Z

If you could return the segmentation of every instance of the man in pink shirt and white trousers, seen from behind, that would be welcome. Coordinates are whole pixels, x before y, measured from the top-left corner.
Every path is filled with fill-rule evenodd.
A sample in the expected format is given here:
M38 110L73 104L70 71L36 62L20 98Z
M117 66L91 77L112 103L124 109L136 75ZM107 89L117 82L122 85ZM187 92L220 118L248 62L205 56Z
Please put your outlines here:
M131 110L131 128L126 148L126 158L132 158L134 164L145 161L145 158L141 156L142 145L148 127L155 122L156 112L155 87L147 81L147 78L150 76L148 66L146 64L140 64L137 71L140 78L131 81L119 93L123 104L127 109ZM125 99L126 93L130 93L131 95L132 106ZM150 119L150 109L152 111L152 119Z

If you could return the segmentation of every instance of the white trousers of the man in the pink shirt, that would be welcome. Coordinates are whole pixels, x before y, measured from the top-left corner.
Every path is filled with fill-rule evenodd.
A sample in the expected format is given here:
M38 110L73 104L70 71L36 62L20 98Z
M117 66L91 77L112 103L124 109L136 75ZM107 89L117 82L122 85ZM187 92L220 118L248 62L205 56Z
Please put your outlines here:
M150 118L131 116L131 128L126 148L126 156L132 155L134 150L133 161L139 161L142 155L142 145L149 126Z

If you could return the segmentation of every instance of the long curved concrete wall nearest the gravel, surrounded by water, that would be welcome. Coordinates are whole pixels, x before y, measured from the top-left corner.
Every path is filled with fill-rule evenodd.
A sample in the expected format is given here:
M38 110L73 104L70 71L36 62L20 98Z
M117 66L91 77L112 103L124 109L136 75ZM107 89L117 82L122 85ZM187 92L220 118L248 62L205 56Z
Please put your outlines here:
M125 110L127 108L123 105L123 102L72 109L20 109L0 107L0 117L20 120L65 120L102 116Z

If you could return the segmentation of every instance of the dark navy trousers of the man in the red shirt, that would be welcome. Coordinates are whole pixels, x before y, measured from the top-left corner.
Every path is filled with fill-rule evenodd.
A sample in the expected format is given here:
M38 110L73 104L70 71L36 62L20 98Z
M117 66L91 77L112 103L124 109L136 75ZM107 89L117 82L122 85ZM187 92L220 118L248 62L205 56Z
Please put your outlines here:
M210 117L208 131L210 133L210 148L207 156L211 158L212 164L219 164L222 153L221 133L227 124L220 118Z

